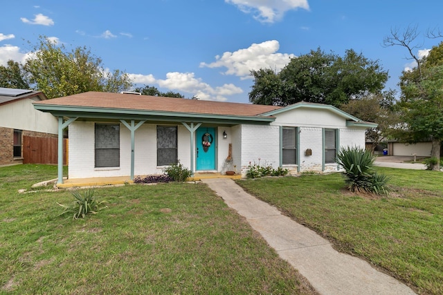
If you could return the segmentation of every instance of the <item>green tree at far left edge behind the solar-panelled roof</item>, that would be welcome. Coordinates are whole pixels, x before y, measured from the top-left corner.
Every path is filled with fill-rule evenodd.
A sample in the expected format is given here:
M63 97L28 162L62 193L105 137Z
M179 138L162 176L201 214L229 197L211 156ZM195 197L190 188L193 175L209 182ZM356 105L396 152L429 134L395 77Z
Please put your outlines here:
M13 60L8 60L6 66L0 66L0 87L29 89L23 66Z

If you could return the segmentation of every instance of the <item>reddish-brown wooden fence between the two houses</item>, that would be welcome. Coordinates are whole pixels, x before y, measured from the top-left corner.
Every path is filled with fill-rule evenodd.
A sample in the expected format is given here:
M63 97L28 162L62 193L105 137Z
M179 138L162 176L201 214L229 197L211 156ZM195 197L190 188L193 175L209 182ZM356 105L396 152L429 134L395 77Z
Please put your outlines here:
M63 139L63 164L66 165L67 139ZM57 164L57 137L23 137L23 164Z

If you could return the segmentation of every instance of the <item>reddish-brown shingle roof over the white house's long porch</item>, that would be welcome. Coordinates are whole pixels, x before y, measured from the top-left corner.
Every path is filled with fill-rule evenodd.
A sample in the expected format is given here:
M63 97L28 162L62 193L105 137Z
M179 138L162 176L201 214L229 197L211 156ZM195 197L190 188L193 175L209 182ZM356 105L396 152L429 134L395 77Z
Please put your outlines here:
M264 106L260 104L212 102L196 99L102 92L69 95L48 99L38 102L38 104L237 116L257 116L282 108L281 106Z

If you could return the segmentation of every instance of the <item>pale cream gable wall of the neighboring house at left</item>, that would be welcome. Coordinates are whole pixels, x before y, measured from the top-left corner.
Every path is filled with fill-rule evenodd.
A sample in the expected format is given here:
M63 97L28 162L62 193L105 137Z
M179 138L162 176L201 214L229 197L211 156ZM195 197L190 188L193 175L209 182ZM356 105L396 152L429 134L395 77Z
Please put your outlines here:
M32 99L19 99L0 106L0 126L41 133L58 133L57 118L37 111Z

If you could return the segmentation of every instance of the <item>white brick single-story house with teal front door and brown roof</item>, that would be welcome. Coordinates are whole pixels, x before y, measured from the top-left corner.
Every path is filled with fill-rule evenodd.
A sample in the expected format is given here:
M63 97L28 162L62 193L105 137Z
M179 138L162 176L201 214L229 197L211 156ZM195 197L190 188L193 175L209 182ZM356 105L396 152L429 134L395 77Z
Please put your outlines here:
M340 147L364 148L365 129L377 126L305 102L281 107L88 92L34 107L58 118L60 134L69 126L69 178L133 179L162 173L177 160L193 173L224 173L229 156L242 175L259 162L293 172L337 171ZM61 175L59 162L59 183Z

